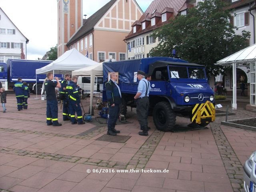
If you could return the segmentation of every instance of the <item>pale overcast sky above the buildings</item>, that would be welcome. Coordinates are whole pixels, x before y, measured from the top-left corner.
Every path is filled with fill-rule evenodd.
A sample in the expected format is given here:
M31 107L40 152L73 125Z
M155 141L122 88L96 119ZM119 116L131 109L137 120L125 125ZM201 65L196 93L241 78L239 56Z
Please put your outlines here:
M83 15L90 17L109 1L83 0ZM145 11L152 0L136 2ZM42 58L57 44L57 0L0 0L0 7L29 39L27 59Z

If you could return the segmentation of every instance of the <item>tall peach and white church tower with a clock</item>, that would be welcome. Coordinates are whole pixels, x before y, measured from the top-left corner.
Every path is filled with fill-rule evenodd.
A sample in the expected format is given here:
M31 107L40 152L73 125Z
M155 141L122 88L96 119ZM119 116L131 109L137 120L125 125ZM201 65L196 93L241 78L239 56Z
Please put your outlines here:
M83 0L57 0L58 2L58 57L68 50L70 38L83 25Z

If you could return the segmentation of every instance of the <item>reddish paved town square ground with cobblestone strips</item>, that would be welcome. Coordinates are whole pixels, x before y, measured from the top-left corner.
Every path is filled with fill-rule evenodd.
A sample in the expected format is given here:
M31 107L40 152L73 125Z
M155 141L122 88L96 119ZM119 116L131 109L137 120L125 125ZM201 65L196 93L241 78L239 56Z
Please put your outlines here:
M156 130L149 117L148 137L138 135L139 124L132 116L131 124L116 126L131 138L114 143L96 140L106 127L62 122L60 106L63 125L46 126L46 101L34 97L29 98L28 110L18 112L15 97L8 95L7 112L0 113L2 190L243 191L242 165L256 150L256 132L220 125L225 116L216 117L208 129L177 133ZM88 102L82 102L88 111ZM244 104L238 106L228 120L255 117L243 110ZM177 117L177 124L189 120Z

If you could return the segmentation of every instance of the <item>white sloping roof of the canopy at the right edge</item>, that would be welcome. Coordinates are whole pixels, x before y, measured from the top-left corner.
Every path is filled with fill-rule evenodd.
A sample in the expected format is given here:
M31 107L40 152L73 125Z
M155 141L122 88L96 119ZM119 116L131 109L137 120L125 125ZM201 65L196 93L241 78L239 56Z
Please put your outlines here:
M232 63L244 63L256 60L256 44L253 44L243 50L240 50L222 60L217 61L216 65L225 65Z

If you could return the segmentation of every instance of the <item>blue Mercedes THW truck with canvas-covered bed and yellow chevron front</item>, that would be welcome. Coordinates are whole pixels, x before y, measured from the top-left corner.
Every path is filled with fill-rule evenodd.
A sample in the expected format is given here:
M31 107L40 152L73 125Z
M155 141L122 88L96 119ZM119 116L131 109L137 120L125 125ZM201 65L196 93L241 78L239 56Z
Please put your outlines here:
M122 93L122 111L136 107L134 96L138 88L137 71L151 75L149 115L158 130L171 131L176 116L190 118L192 127L206 126L215 120L214 91L210 88L205 67L169 57L151 57L103 63L103 80L110 72L118 72ZM106 89L103 91L106 101Z

